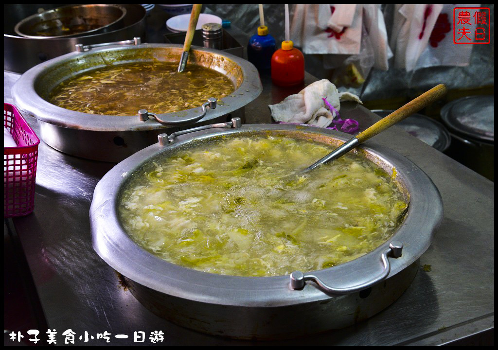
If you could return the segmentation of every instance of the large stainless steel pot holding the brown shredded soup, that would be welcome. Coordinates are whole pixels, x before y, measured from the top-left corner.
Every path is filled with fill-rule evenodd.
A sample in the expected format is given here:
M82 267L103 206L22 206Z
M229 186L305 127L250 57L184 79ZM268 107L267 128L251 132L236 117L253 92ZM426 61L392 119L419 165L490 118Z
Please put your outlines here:
M84 50L84 48L83 48ZM153 118L103 116L66 110L47 102L49 93L62 81L79 73L109 65L152 60L178 62L181 45L140 44L111 46L73 52L39 64L24 73L12 88L16 106L40 122L41 138L51 147L83 158L118 162L156 142L162 132L179 130L179 121L203 125L244 117L242 107L262 91L256 68L248 61L222 51L193 47L189 62L217 70L234 83L236 90L222 99L216 109L194 108L160 115L165 125ZM139 89L139 87L137 87ZM149 111L158 112L158 111ZM204 117L200 117L202 113ZM147 119L147 120L144 120Z

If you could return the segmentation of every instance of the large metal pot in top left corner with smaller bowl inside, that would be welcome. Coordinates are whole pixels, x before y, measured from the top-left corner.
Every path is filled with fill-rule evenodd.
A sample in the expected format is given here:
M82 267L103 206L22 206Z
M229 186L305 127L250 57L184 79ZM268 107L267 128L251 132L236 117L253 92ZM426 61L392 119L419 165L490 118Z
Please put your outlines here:
M126 40L145 35L145 8L138 3L124 3L126 10L116 30L85 34L70 38L25 38L14 31L20 20L39 8L53 8L65 4L7 3L3 7L3 70L24 73L29 68L49 59L74 51L76 44L90 45Z

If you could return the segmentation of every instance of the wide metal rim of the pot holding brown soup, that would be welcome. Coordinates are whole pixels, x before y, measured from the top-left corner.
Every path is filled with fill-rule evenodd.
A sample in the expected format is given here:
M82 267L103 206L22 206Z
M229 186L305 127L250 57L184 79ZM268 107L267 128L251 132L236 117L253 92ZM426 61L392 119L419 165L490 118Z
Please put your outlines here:
M50 104L41 98L36 92L35 85L40 77L50 72L55 67L61 66L70 61L77 61L85 55L99 54L107 51L120 51L120 50L136 50L157 48L157 50L164 48L172 48L178 51L178 57L181 55L182 45L179 44L140 44L134 46L115 45L108 46L100 49L92 49L83 53L71 52L49 61L40 63L33 68L26 71L15 82L12 87L12 97L18 108L28 112L33 117L61 127L84 129L91 131L129 131L129 130L155 130L167 127L174 127L176 125L163 125L153 118L146 121L141 121L137 115L134 116L111 116L111 115L96 115L81 113L76 111L67 110L61 107ZM192 46L191 50L196 52L208 52L213 55L221 56L223 59L228 59L235 62L242 70L244 80L232 94L224 97L221 104L214 110L207 111L207 114L197 122L205 122L210 119L221 117L234 112L249 102L253 101L262 92L261 82L257 69L249 61L240 57L231 55L229 53L208 49L199 46ZM125 62L122 62L125 63ZM83 72L83 71L82 71ZM190 115L199 115L201 108L194 108L190 110L183 110L179 112L161 114L165 117L185 117ZM149 111L154 113L155 111Z

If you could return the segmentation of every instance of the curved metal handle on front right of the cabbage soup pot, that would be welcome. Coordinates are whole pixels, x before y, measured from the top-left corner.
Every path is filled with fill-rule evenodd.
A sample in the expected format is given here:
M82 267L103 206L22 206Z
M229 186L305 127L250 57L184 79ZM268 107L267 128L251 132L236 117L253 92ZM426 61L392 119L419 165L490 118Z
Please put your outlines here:
M389 264L389 260L387 259L387 257L398 258L401 256L402 250L403 250L403 243L393 240L389 244L389 247L385 249L382 255L380 256L380 260L382 261L383 265L382 272L368 282L346 288L334 288L325 284L321 279L319 279L315 275L305 275L301 271L294 271L290 274L290 288L303 289L306 284L306 281L313 281L318 285L319 289L321 289L325 293L330 293L330 294L344 295L367 289L373 286L374 284L377 284L378 282L387 278L389 272L391 271L391 265Z

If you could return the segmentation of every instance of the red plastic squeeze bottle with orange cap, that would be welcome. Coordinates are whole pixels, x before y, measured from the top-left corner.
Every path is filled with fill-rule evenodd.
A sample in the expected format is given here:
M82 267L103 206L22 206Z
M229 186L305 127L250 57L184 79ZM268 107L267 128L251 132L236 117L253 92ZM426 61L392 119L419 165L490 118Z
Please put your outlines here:
M278 86L295 86L304 82L304 56L292 41L282 41L282 48L271 57L271 80Z

